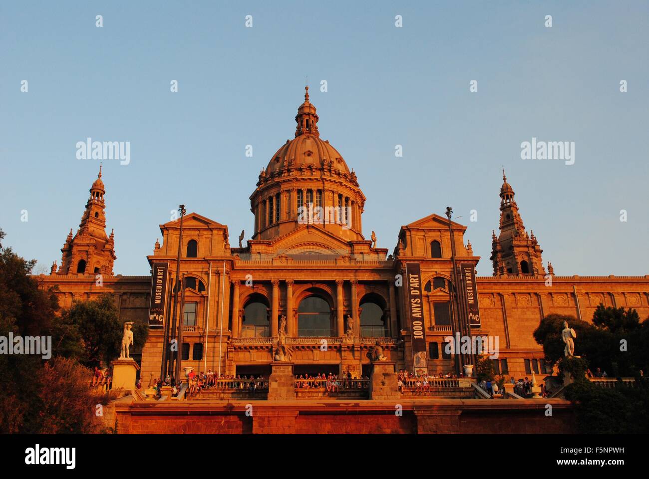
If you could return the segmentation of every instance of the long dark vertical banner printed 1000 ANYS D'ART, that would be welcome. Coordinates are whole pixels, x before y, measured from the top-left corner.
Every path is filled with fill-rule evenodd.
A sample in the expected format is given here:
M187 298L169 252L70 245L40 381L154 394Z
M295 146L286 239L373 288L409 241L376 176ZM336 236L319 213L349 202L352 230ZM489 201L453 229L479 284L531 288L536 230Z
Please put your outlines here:
M427 375L428 352L426 351L426 328L422 308L421 269L419 263L406 263L406 288L408 288L413 369L415 375Z

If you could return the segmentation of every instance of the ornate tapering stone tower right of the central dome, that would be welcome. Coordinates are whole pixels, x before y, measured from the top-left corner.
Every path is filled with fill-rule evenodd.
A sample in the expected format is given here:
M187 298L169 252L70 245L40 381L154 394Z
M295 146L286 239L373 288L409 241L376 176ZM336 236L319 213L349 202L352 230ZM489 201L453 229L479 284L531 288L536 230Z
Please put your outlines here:
M514 190L502 171L500 187L500 235L492 234L491 262L493 275L502 278L511 275L543 276L543 250L534 236L528 234L514 200Z

